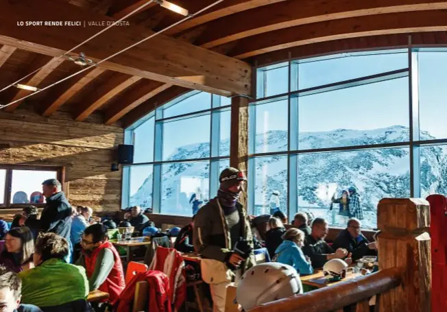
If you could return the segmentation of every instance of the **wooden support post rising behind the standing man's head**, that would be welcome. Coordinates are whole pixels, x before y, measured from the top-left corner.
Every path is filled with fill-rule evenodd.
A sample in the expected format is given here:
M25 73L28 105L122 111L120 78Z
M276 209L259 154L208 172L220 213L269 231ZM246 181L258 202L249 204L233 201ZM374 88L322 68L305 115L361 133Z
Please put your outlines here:
M231 99L231 134L230 134L230 166L247 174L248 155L248 99L233 97ZM245 189L247 189L245 187ZM239 202L247 207L247 196L241 195Z

